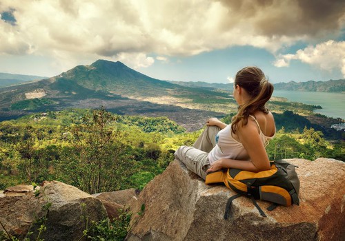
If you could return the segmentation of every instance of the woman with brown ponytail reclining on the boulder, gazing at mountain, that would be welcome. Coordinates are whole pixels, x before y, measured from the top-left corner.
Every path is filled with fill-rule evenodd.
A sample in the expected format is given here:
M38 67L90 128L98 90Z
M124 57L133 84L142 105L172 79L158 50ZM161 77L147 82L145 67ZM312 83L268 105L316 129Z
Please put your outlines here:
M265 147L275 135L275 121L265 104L272 93L273 85L258 67L239 70L233 91L239 110L231 125L210 118L193 147L179 147L175 157L204 180L206 172L222 168L270 169Z

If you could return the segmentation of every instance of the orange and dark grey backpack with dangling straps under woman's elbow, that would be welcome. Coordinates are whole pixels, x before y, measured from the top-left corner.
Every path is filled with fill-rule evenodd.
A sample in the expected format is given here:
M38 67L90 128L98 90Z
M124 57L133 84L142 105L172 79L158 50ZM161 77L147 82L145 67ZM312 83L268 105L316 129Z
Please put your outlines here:
M299 205L299 179L295 171L295 165L285 160L274 160L270 162L270 170L251 172L240 169L221 169L209 172L206 175L206 184L224 182L226 187L233 189L237 195L232 196L226 203L224 219L228 218L230 205L239 196L248 196L259 210L259 213L266 217L266 214L257 205L255 199L273 202L267 208L272 211L278 205L286 207Z

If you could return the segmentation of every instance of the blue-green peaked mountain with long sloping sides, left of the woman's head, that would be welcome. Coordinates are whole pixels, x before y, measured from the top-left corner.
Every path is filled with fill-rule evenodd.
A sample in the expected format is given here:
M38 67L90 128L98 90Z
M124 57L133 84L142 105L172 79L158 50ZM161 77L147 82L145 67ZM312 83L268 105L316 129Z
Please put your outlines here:
M213 107L215 100L217 105L223 101L227 107L219 112ZM229 103L235 101L228 93L160 81L119 61L99 60L52 78L0 88L0 121L67 107L104 106L117 114L168 116L174 121L183 120L189 129L194 128L193 125L200 128L210 116L224 116ZM188 118L197 121L188 121Z

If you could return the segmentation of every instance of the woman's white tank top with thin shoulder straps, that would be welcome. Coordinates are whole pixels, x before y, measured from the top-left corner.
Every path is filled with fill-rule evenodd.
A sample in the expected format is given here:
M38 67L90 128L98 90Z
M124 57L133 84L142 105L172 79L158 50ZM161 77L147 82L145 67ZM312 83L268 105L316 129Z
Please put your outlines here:
M253 120L257 123L257 120L254 118L254 116L250 117L253 118ZM257 126L260 130L259 136L262 139L262 143L264 143L265 146L268 145L269 140L272 139L275 135L265 136L260 129L259 123L257 123ZM235 160L250 159L248 152L246 151L246 149L244 149L242 143L233 138L231 125L227 125L224 129L221 129L218 132L216 136L216 143L217 145L215 145L215 147L213 147L213 149L208 154L208 161L210 162L210 164L221 158L230 158Z

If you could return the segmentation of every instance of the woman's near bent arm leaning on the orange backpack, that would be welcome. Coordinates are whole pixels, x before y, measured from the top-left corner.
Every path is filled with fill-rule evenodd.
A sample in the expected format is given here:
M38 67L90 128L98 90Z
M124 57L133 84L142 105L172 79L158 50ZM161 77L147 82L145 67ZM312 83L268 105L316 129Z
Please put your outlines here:
M248 152L250 160L219 159L211 165L207 171L217 171L221 168L237 168L246 171L265 171L270 169L270 161L259 136L257 125L248 121L247 125L241 126L236 132L242 145Z

